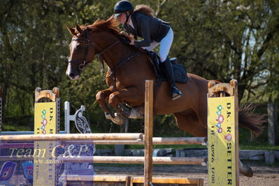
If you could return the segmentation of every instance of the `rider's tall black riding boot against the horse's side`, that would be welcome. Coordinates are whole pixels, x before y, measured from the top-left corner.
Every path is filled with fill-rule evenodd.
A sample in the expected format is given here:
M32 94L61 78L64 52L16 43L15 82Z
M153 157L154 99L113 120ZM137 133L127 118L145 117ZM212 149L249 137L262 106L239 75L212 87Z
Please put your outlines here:
M174 75L173 75L173 65L171 64L169 57L166 57L166 60L164 62L162 62L162 64L164 66L164 71L168 78L169 84L171 85L171 99L176 100L176 99L180 98L182 93L176 87L176 81L175 81Z

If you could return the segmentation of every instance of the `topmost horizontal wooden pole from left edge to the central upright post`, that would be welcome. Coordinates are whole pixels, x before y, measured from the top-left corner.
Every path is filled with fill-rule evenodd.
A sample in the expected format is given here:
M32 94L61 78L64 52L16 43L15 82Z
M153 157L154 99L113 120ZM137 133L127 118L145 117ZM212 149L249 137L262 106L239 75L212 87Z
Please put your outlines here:
M0 141L86 141L86 140L138 140L143 139L141 133L108 133L108 134L30 134L3 135ZM94 143L94 141L92 141Z

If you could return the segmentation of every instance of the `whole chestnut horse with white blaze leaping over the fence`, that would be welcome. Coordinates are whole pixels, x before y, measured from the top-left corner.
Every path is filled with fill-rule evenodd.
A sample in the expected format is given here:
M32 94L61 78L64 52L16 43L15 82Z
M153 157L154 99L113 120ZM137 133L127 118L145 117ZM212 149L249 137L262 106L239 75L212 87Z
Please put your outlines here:
M87 26L66 26L72 36L66 75L71 80L78 79L94 56L101 56L108 66L108 89L99 91L96 101L106 118L116 124L122 124L124 117L143 117L145 80L156 80L156 76L147 53L141 48L122 42L123 36L117 29L118 25L117 20L110 17L108 20L96 20ZM154 113L173 113L179 129L193 136L206 137L208 80L192 73L187 73L187 76L187 83L176 83L183 92L179 99L171 100L169 83L165 81L155 89ZM116 113L108 108L106 101L117 110ZM131 110L124 105L128 105ZM249 129L252 134L259 135L262 132L262 122L259 117L251 116L239 113L239 124ZM250 167L243 166L241 162L240 167L241 173L252 177Z

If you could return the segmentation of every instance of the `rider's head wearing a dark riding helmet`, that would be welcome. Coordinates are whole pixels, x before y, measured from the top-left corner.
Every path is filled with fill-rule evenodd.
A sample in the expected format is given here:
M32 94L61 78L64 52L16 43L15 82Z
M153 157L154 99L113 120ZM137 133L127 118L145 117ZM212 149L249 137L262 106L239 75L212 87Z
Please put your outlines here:
M129 1L119 1L114 6L114 17L117 17L117 19L124 24L133 11L134 6Z

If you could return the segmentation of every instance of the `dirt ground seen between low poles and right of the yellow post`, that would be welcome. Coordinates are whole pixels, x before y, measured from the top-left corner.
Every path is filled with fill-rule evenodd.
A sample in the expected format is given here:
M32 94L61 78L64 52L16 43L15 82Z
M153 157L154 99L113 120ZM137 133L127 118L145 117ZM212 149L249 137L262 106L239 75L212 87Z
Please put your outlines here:
M240 176L240 185L248 186L279 186L279 167L247 164L252 167L254 176L247 178ZM143 166L94 166L96 174L143 176ZM204 185L208 185L208 173L205 166L194 165L155 165L154 176L203 178Z

